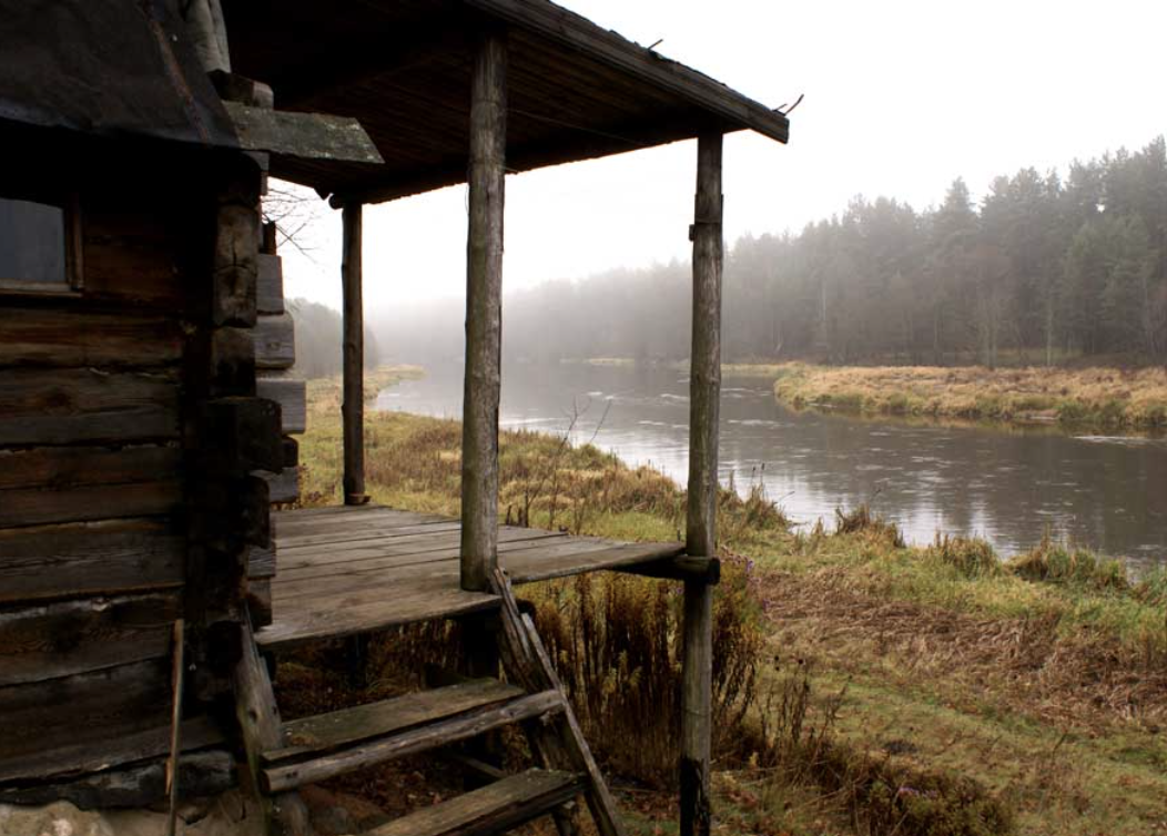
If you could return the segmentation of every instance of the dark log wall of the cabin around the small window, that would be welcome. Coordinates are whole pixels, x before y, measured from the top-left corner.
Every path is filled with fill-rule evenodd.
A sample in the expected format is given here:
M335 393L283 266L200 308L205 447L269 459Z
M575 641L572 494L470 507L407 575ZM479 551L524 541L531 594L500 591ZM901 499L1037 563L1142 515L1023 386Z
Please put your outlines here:
M125 152L55 142L16 142L0 161L0 197L76 199L82 264L77 293L0 287L6 800L20 800L35 782L75 780L166 753L172 625L189 619L193 606L208 609L208 598L190 596L194 473L256 447L240 442L216 458L198 442L191 445L205 434L191 436L190 428L203 420L224 423L222 409L205 409L214 394L254 403L236 416L244 423L264 405L256 399L254 314L250 323L244 314L219 322L214 333L211 328L217 307L235 305L237 314L249 300L256 307L254 283L242 298L212 298L223 259L216 254L222 180L214 176L222 156L177 159L161 145ZM36 160L47 162L30 164ZM232 211L246 226L246 206ZM243 262L247 253L229 258ZM264 304L274 304L270 295ZM282 311L270 312L279 322L263 345L286 357ZM214 393L197 382L216 375L232 391ZM274 406L267 409L275 414ZM282 476L287 454L273 433L277 458L265 462ZM232 503L210 503L221 499ZM266 505L252 525L266 532ZM257 560L260 571L271 560ZM203 570L208 577L218 571ZM221 589L204 583L212 600ZM244 583L238 596L245 595ZM211 637L198 640L209 645ZM193 659L207 656L204 647ZM193 724L187 746L221 743L197 694L186 709Z

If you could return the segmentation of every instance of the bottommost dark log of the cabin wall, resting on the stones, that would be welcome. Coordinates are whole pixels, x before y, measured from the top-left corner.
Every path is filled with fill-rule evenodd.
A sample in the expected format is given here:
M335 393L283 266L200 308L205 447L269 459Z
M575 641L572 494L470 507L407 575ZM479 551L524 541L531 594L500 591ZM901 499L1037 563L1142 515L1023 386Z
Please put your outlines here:
M225 750L187 752L179 764L179 798L218 795L236 785L235 756ZM104 770L75 780L0 787L0 805L49 805L71 801L77 807L109 809L151 807L166 799L166 764L153 760Z

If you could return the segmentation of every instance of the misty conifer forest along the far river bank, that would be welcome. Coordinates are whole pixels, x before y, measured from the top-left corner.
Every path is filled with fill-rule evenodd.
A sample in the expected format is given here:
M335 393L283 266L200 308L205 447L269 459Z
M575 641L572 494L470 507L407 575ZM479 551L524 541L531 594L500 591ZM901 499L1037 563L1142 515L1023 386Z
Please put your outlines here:
M727 360L1051 364L1167 359L1167 145L992 181L938 206L858 197L798 233L727 250ZM689 265L614 269L509 294L512 359L687 357ZM383 317L401 359L459 356L461 301Z

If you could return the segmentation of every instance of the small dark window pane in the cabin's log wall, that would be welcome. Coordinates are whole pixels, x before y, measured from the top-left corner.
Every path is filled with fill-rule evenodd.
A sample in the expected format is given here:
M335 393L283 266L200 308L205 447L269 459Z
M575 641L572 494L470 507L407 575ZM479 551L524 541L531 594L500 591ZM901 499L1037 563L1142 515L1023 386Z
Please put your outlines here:
M0 198L0 286L65 286L65 213Z

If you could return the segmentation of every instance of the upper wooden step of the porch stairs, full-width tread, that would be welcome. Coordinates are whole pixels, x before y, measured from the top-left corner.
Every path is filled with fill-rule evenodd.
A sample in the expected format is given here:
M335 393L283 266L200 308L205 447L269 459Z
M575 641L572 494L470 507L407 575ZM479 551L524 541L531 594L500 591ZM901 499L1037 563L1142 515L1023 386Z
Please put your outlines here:
M497 680L469 680L284 725L285 744L263 754L267 793L466 740L564 710L557 690L526 694Z

